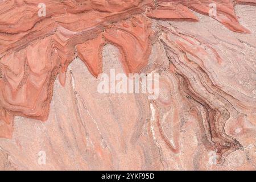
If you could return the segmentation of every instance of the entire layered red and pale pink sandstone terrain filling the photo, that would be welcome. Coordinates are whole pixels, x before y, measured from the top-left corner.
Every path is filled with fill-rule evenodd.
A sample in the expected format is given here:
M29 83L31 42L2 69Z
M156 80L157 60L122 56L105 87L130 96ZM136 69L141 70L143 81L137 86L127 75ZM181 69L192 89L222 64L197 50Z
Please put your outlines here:
M255 170L255 5L0 0L0 169ZM98 93L113 68L159 98Z

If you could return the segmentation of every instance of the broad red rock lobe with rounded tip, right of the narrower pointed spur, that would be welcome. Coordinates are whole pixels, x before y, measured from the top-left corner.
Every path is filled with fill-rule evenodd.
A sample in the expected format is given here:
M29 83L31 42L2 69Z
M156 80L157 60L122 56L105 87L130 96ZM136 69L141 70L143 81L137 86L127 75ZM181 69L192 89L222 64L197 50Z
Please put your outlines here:
M143 16L133 16L104 32L105 39L119 48L126 73L137 73L147 65L151 52L150 26Z

